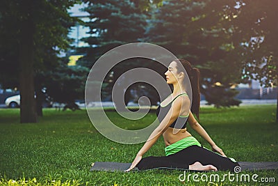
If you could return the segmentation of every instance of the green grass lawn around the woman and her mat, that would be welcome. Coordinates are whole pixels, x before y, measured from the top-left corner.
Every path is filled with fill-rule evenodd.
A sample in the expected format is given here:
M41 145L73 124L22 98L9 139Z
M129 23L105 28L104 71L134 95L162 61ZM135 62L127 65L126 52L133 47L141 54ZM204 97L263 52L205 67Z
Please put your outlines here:
M278 123L275 105L201 109L200 123L224 153L245 162L278 162ZM107 111L111 121L135 130L155 120L154 113L140 121L128 121L115 111ZM98 122L98 121L95 121ZM101 121L99 121L101 122ZM209 145L193 130L206 148ZM142 144L117 144L93 127L85 110L44 109L38 123L19 123L19 109L0 109L0 185L277 185L278 170L254 171L259 178L275 178L275 183L181 182L183 171L153 170L142 172L90 171L92 162L132 162ZM164 155L163 139L145 154ZM190 172L186 172L186 175ZM194 174L193 172L191 172ZM228 172L218 172L221 176ZM240 173L238 173L239 175ZM211 173L197 173L210 176Z

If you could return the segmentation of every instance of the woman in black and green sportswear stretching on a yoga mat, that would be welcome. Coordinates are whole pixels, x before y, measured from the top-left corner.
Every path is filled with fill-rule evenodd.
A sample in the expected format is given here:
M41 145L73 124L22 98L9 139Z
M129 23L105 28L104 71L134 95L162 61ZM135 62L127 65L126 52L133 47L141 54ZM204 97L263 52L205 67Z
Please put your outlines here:
M185 88L186 73L193 90L191 110L190 99ZM173 85L173 91L158 107L160 125L149 136L126 171L131 171L136 166L140 170L170 167L196 171L234 171L234 167L239 164L223 153L193 116L196 114L199 118L199 70L192 68L188 61L177 59L170 63L165 76L167 84ZM197 139L186 130L186 121L211 145L213 151L220 155L202 147ZM165 141L166 156L142 158L142 155L156 143L161 135Z

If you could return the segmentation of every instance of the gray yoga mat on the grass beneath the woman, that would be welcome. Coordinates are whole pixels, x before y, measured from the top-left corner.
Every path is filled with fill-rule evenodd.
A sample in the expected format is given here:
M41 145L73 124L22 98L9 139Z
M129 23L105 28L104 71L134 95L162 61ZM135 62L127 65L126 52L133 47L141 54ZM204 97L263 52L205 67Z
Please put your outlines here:
M259 171L259 170L273 170L278 169L278 162L238 162L242 171ZM125 171L129 169L131 163L120 162L95 162L90 171ZM167 167L160 167L156 169L174 169ZM186 170L186 169L176 169ZM133 171L139 171L137 167Z

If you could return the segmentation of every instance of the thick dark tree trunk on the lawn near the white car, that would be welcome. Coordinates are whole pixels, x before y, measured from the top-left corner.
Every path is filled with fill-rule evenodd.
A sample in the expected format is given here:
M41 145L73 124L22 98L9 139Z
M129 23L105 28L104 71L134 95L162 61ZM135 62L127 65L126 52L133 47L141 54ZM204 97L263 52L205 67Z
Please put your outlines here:
M22 26L19 38L19 88L20 88L20 123L37 123L34 98L33 78L33 35L35 26L31 8L22 1Z

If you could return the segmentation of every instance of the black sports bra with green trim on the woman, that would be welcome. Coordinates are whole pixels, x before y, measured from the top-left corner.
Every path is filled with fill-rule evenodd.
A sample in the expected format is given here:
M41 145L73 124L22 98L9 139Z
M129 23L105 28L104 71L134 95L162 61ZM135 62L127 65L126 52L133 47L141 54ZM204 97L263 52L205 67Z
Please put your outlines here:
M181 93L179 95L176 96L176 98L174 98L170 103L168 103L165 107L162 107L161 105L158 106L158 108L156 109L156 116L158 118L158 121L161 122L163 121L163 118L165 118L166 114L168 113L168 111L170 110L171 106L172 106L172 102L174 100L176 100L179 96L181 95L187 95L187 93ZM169 95L170 96L170 95ZM168 96L168 97L169 97ZM188 96L188 95L187 95ZM167 97L167 98L168 98ZM186 128L186 121L188 118L189 114L187 116L179 116L171 125L170 127L172 128L177 128L177 129L181 129L181 128Z

